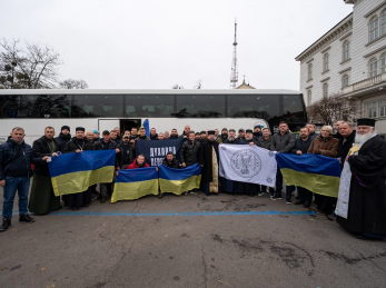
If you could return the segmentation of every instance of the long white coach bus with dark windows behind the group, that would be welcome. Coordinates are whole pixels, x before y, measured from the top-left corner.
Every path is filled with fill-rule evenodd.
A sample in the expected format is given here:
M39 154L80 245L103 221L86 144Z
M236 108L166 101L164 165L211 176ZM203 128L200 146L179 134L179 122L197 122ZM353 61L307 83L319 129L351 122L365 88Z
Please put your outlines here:
M22 127L32 143L52 126L121 132L149 119L157 132L239 128L255 125L276 131L280 121L298 131L307 121L303 95L295 90L0 90L0 142L13 127Z

